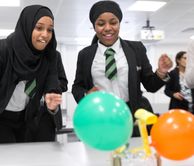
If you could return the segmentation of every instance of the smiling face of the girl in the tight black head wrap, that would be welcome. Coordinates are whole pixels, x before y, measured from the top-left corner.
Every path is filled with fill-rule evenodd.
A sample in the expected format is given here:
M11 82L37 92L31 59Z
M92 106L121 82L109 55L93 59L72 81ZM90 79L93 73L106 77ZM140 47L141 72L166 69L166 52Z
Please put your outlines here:
M110 12L101 14L95 21L96 35L105 46L111 46L117 41L119 30L119 19Z

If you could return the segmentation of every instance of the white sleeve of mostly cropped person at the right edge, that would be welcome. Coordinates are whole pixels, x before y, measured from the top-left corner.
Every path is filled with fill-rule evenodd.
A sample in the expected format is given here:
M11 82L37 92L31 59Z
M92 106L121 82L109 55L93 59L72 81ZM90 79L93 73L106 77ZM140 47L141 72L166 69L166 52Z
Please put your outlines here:
M187 49L185 80L189 88L194 88L194 41L190 42Z

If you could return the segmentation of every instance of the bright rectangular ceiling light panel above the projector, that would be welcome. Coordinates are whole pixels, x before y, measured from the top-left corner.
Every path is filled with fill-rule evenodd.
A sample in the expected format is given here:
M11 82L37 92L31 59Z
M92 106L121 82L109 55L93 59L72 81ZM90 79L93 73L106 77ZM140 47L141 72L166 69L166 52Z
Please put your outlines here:
M136 1L128 10L132 11L156 11L164 6L166 2L162 1Z

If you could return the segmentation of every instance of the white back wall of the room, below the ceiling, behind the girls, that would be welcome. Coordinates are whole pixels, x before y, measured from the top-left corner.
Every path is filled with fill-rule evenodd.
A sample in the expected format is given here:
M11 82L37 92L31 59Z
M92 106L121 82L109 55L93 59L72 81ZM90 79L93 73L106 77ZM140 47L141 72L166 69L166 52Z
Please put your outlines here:
M166 44L162 45L160 43L145 44L147 49L147 55L150 63L155 71L158 64L158 59L162 53L167 53L174 61L177 52L187 50L187 43L185 44ZM74 81L77 55L79 50L81 50L85 45L60 45L60 51L62 54L62 60L64 68L68 78L68 92L64 94L63 107L67 108L69 115L73 115L73 111L76 108L76 102L71 94L71 86ZM144 90L144 89L143 89ZM169 98L163 93L164 88L161 88L156 93L144 92L144 95L150 100L155 112L163 113L168 111ZM70 117L71 118L71 117Z

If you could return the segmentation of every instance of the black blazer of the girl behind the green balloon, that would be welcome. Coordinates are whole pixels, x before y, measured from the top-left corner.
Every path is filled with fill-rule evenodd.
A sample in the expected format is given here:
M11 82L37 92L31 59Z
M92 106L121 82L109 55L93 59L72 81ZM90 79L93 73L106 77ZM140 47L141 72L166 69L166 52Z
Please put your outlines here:
M134 113L136 109L140 108L140 99L142 96L140 83L143 84L147 91L156 92L165 82L153 73L152 66L146 55L146 49L141 42L120 40L129 67L128 104L132 113ZM91 66L97 47L97 44L93 44L82 49L78 54L76 76L72 85L72 94L77 102L94 86L91 76Z

